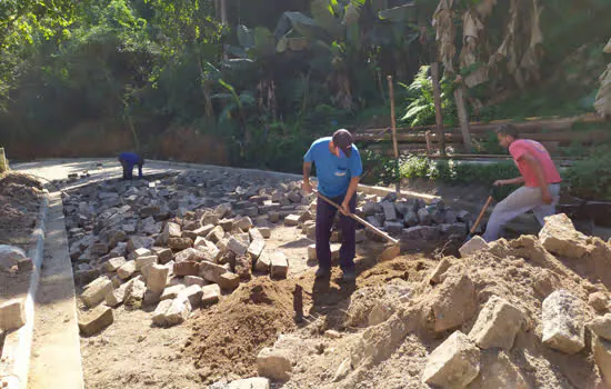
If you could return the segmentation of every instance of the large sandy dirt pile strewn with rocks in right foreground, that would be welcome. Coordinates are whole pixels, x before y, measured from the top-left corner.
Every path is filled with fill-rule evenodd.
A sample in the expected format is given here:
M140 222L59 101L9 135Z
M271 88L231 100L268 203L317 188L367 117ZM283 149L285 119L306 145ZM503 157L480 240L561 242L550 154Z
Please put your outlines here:
M431 353L455 332L468 337L492 297L519 309L524 320L511 348L482 348L477 378L455 387L604 388L610 378L599 365L604 362L594 358L597 336L588 327L585 347L575 353L542 341L543 301L555 291L577 299L581 325L610 312L611 280L604 268L611 262L611 245L598 238L587 238L583 245L585 256L567 258L549 252L537 237L524 236L500 240L467 258L443 258L443 265L409 257L380 263L360 275L344 326L337 328L341 337L317 336L325 327L303 329L292 335L301 339L293 342L299 348L277 345L294 358L283 388L427 388L423 371ZM303 351L312 340L319 343Z

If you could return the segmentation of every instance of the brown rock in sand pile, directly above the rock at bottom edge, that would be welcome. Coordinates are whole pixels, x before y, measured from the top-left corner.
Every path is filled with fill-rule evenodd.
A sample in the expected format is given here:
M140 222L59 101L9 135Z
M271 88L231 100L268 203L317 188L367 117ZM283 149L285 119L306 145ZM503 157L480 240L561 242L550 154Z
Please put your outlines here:
M455 328L471 319L478 310L473 281L461 266L447 271L443 283L435 287L431 298L431 317L435 332Z

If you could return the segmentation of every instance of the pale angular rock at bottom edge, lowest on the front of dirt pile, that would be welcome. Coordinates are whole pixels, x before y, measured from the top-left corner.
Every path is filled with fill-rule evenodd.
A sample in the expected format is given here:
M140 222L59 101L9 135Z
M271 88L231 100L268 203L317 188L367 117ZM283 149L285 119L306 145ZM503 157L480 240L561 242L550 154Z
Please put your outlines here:
M460 332L452 333L429 356L422 382L440 388L464 388L480 372L480 350Z

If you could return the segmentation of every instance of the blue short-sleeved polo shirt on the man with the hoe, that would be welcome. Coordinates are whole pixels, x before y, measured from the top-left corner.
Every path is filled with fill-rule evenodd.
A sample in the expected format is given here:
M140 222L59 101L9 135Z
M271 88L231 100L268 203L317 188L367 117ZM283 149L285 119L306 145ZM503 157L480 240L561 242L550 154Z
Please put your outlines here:
M340 152L337 157L329 150L331 137L321 138L312 143L310 150L303 157L304 162L313 162L317 166L318 190L327 197L340 197L345 194L352 177L363 173L363 163L359 149L352 144L350 158Z

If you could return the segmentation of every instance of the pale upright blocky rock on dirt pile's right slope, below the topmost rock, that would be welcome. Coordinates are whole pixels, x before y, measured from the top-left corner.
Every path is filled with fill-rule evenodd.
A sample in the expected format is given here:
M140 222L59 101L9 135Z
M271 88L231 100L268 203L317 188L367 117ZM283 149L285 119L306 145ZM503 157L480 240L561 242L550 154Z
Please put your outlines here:
M543 300L543 343L564 353L575 353L585 347L581 300L561 289Z

